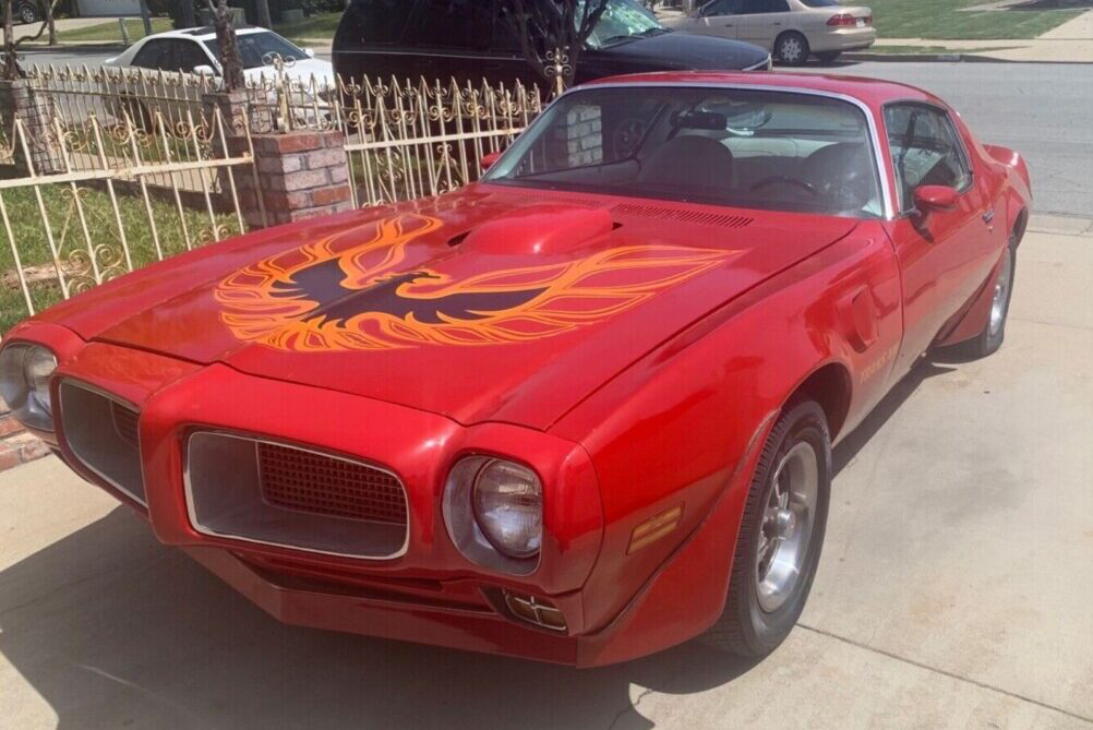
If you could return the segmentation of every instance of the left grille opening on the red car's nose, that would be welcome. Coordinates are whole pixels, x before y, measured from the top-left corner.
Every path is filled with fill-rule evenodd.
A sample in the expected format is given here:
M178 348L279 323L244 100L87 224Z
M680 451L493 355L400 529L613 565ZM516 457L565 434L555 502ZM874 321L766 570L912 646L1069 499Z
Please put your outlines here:
M109 485L144 504L140 414L73 380L62 380L59 390L61 432L72 454Z

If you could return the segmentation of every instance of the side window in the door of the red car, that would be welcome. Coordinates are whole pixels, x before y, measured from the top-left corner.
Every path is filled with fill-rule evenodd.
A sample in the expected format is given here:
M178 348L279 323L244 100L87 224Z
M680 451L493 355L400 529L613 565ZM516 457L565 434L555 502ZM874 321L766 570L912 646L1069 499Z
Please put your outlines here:
M964 148L943 111L920 104L893 104L884 107L884 126L902 210L912 208L915 190L920 186L943 185L966 190L972 184Z

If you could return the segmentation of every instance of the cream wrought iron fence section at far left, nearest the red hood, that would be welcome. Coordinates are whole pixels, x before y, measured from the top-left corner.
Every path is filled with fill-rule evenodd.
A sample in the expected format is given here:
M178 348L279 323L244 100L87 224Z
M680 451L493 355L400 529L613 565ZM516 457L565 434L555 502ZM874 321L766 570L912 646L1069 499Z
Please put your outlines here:
M57 160L43 170L35 148L44 130L13 118L0 150L15 173L0 179L0 331L106 280L246 231L236 179L257 179L249 133L242 130L242 151L230 144L215 107L201 123L192 114L185 122L188 137L169 130L161 111L108 123L91 111L73 133L56 116L49 145Z

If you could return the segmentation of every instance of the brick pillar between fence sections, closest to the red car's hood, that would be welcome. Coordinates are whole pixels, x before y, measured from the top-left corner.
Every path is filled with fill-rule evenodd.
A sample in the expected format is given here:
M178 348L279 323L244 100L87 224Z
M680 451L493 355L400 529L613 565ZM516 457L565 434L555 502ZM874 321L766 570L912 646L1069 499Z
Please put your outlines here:
M261 227L258 196L269 225L303 221L353 209L345 167L345 136L340 131L254 134L258 188L250 175L237 175L247 225ZM238 141L244 142L245 140Z

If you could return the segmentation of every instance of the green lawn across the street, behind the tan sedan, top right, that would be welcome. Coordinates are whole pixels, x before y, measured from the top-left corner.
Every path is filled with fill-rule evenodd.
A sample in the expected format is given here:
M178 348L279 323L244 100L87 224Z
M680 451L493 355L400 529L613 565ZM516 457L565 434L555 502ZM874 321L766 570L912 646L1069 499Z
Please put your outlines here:
M1036 36L1077 17L1081 11L1011 10L962 12L985 0L843 0L873 10L884 38L1009 39Z

